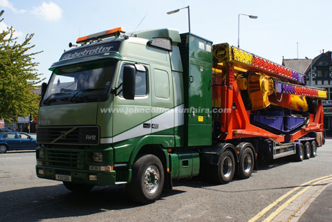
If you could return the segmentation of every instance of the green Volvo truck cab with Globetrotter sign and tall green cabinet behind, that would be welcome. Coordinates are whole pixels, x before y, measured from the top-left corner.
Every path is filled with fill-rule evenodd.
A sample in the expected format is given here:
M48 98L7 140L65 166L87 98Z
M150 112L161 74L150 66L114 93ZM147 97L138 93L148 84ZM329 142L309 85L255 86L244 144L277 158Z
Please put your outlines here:
M196 147L212 145L212 42L117 28L77 43L42 87L37 176L74 192L126 184L151 203L172 179L198 175Z

